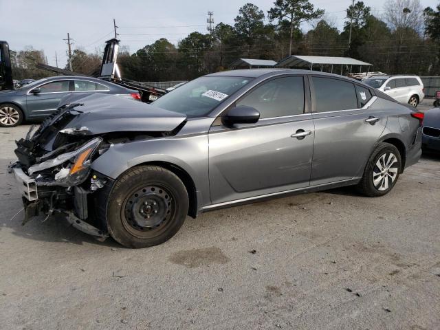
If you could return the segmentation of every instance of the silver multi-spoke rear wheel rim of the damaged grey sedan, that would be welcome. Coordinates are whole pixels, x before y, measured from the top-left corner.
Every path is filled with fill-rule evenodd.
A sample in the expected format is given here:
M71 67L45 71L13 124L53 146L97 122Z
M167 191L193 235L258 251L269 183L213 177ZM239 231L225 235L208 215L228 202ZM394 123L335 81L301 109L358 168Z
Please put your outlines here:
M394 153L384 153L373 168L373 184L377 190L384 191L393 185L399 170Z

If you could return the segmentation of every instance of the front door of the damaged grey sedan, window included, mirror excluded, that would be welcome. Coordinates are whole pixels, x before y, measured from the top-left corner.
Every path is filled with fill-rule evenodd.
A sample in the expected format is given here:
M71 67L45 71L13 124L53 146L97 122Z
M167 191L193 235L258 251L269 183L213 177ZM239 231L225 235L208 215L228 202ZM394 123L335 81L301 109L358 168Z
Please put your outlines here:
M272 78L232 104L260 112L254 124L209 131L212 203L223 203L309 186L314 124L305 76ZM225 111L228 111L226 109ZM306 132L305 137L292 137Z

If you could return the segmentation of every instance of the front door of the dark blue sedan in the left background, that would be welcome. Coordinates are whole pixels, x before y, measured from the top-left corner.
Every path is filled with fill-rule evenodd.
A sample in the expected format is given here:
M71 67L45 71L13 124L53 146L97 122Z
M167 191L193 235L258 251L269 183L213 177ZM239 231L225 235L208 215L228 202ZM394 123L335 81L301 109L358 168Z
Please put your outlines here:
M31 89L26 95L26 104L30 117L45 117L58 107L61 98L70 94L70 84L73 80L54 80L40 86L40 92L33 94Z

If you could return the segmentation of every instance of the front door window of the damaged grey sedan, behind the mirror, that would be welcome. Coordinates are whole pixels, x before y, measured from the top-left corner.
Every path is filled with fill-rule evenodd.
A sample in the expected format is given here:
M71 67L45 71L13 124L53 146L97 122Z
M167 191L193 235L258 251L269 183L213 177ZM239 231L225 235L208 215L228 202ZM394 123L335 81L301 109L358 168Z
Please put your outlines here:
M296 76L270 80L236 102L236 106L253 107L263 119L304 113L304 103L304 78Z

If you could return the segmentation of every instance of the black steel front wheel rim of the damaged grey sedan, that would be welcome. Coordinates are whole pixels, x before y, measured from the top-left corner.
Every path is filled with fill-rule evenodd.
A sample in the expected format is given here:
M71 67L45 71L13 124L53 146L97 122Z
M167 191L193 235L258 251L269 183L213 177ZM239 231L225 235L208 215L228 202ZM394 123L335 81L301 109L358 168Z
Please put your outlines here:
M175 201L164 187L151 185L136 188L124 201L124 228L142 238L166 228L175 211Z

